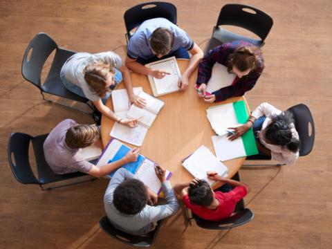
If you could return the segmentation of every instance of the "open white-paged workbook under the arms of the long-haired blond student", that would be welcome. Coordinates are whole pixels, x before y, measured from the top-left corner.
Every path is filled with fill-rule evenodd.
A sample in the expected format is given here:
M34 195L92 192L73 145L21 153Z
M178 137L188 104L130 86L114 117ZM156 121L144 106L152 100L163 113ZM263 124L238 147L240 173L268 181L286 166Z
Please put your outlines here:
M137 126L130 128L115 122L110 136L129 142L131 145L141 146L147 134L147 129L151 127L165 103L142 91L142 87L134 87L133 92L147 101L147 105L143 109L136 107L135 104L129 105L126 89L114 90L111 94L113 110L116 116L120 118L136 118L138 119Z

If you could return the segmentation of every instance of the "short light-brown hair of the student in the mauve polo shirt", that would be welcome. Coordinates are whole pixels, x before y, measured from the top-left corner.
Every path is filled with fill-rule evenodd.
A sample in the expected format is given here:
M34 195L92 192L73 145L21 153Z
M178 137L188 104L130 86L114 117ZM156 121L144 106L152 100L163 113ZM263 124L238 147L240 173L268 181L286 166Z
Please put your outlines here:
M92 145L99 138L99 129L95 125L77 124L67 130L64 141L68 147L78 149Z

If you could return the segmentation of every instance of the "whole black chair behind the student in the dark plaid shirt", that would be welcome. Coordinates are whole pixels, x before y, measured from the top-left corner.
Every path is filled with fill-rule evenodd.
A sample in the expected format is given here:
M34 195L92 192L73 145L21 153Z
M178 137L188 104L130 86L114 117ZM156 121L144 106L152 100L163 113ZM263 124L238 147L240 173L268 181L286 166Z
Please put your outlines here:
M245 28L257 35L260 39L252 39L243 35L232 33L229 30L221 28L221 25L237 26ZM221 8L216 26L212 30L212 37L205 48L205 54L209 50L219 46L225 42L242 40L255 44L256 46L264 46L264 40L268 36L273 26L273 19L257 8L246 6L243 4L226 4Z

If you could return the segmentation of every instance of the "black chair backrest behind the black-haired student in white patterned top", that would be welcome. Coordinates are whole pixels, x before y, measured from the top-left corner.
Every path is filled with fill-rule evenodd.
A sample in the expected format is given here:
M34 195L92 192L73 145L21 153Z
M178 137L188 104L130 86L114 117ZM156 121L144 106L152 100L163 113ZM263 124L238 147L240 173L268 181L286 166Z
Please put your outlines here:
M306 156L313 149L315 142L315 124L313 122L313 116L305 104L297 104L289 108L288 111L293 113L295 129L297 133L299 133L299 140L301 140L299 156Z

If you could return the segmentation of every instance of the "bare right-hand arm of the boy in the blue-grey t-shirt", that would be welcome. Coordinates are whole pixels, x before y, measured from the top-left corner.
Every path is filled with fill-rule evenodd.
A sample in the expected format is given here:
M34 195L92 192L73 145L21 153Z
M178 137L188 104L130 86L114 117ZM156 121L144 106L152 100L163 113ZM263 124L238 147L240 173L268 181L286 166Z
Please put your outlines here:
M178 87L180 90L187 89L189 86L190 75L192 75L197 66L199 66L199 62L201 62L201 59L203 58L203 50L201 50L197 44L194 44L194 47L189 50L189 52L192 54L192 57L190 58L187 68L185 68L185 71L178 80Z

